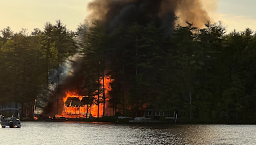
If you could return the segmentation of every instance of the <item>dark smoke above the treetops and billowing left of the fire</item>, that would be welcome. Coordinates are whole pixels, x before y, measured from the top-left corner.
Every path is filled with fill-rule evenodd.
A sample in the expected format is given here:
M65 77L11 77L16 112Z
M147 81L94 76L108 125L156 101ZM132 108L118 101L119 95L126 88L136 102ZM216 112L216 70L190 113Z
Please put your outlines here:
M147 25L148 22L154 21L157 27L162 27L164 32L170 35L173 26L177 24L177 17L180 24L186 24L187 20L198 27L203 27L207 20L211 20L202 8L202 0L93 0L88 3L87 10L89 14L86 20L89 23L99 20L106 25L109 32L121 24ZM45 114L56 114L56 111L52 111L57 108L56 98L62 103L58 106L61 110L61 99L65 97L66 90L77 90L79 95L86 95L80 86L83 83L83 76L80 75L79 59L78 62L75 60L71 63L72 75L63 78L54 93L49 96L50 101L45 107Z

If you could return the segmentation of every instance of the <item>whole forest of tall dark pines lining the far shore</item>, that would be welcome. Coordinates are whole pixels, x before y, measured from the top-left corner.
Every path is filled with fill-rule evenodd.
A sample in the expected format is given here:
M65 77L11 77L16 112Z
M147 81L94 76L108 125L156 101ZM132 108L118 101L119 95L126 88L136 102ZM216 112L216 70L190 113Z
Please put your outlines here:
M179 110L188 122L256 123L256 34L249 28L227 32L223 22L205 22L204 28L187 22L171 32L154 21L113 30L95 21L76 32L61 20L31 33L6 27L0 35L0 105L34 106L36 99L44 108L53 78L62 85L60 68L77 54L86 95L102 92L100 77L113 80L108 102L115 113L140 116L150 106ZM105 102L101 97L97 103Z

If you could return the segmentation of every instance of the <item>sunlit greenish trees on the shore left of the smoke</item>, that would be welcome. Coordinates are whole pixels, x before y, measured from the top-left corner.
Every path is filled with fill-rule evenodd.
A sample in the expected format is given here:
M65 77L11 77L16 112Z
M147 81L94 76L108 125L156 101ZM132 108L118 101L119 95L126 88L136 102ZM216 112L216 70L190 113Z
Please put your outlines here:
M31 34L27 29L16 33L10 27L1 30L1 106L10 102L16 107L34 106L35 99L41 100L38 106L44 106L52 71L76 53L74 36L60 20L54 25L47 22L44 31L36 28Z

